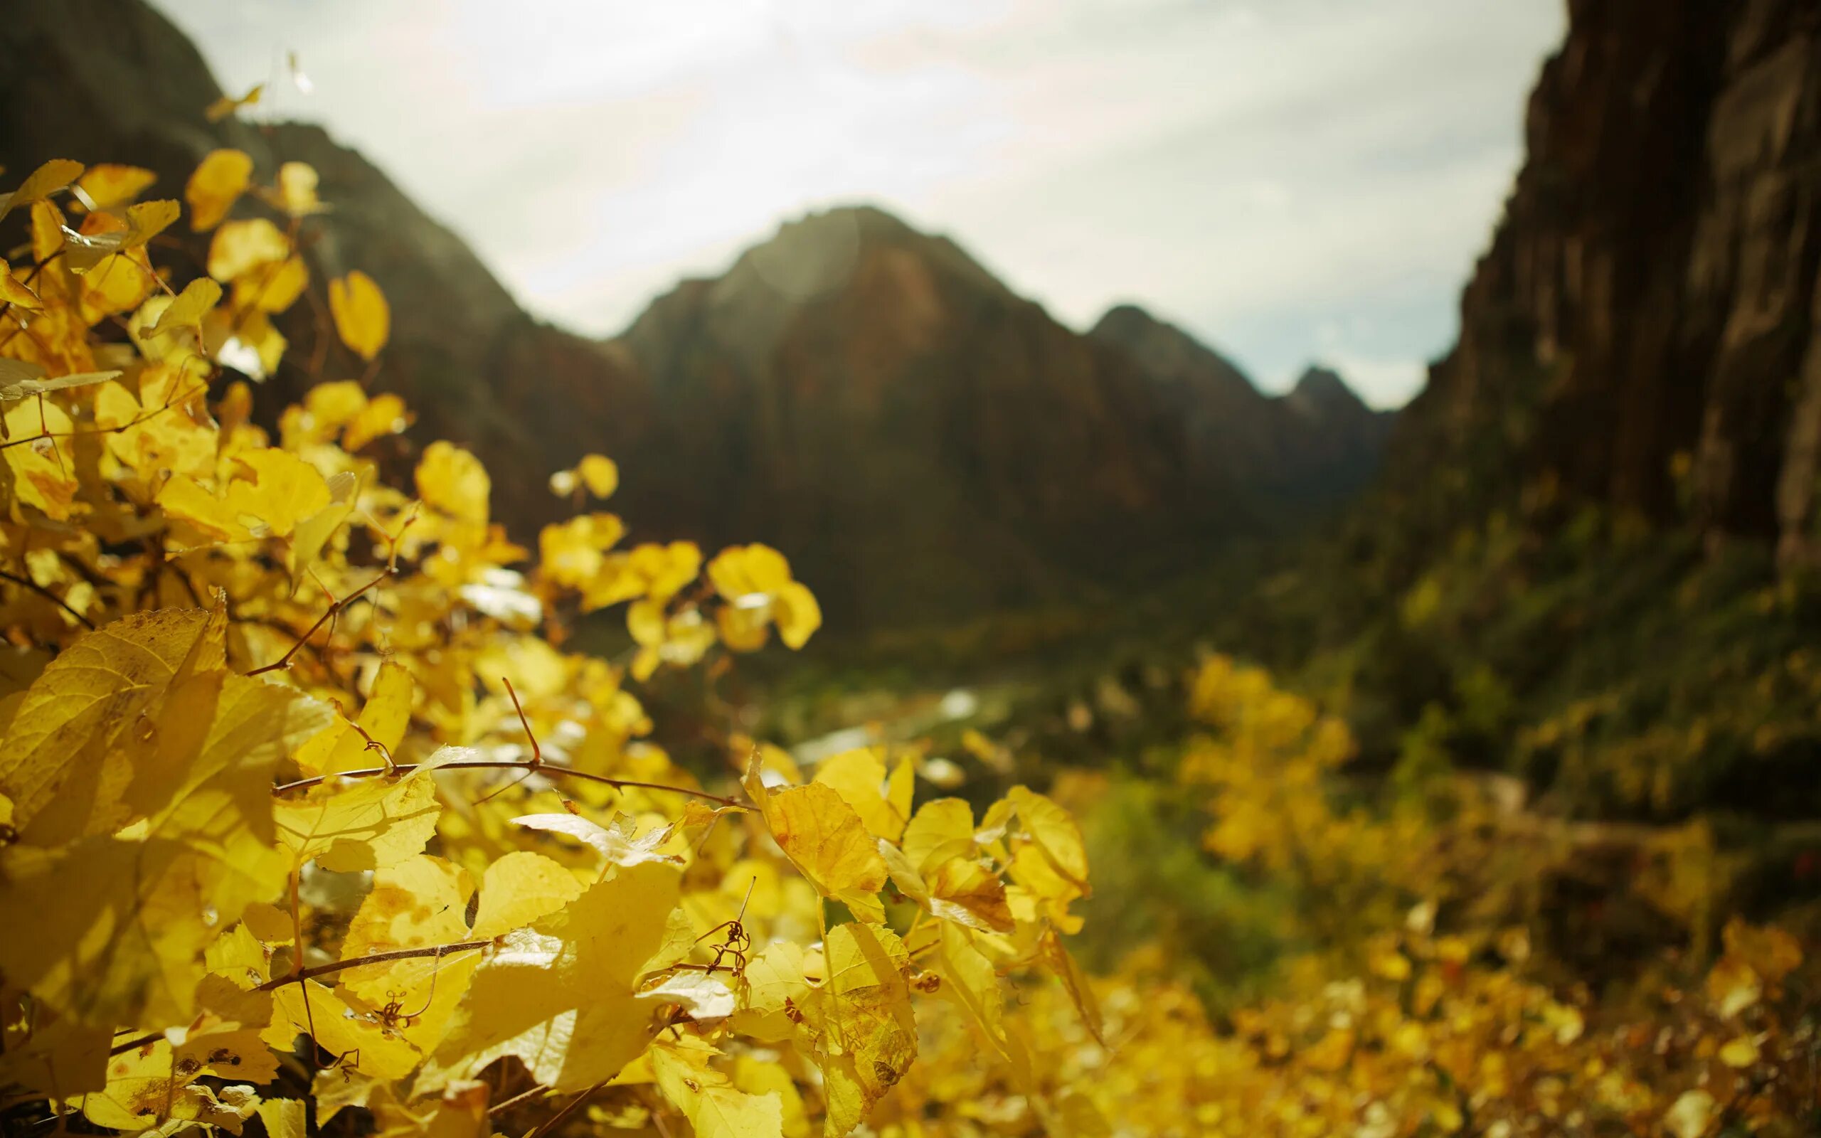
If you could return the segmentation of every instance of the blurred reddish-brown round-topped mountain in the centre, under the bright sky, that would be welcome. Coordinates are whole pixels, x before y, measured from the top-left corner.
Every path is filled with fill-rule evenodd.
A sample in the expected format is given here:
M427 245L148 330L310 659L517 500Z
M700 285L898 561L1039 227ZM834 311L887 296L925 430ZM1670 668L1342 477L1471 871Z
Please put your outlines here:
M1227 368L1180 381L1104 333L1125 322L1076 335L880 209L790 222L621 337L663 424L645 493L717 541L790 550L823 570L832 610L880 626L1142 579L1133 566L1189 564L1269 532L1304 492L1364 483L1364 468L1224 453L1267 435L1313 455L1357 424L1260 395L1171 330Z

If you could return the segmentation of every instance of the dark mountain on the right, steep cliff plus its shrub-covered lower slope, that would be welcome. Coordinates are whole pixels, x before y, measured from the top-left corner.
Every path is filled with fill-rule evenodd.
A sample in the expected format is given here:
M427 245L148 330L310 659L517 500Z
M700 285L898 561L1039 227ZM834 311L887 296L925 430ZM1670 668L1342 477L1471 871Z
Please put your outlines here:
M1378 484L1213 635L1335 692L1364 768L1816 818L1821 4L1568 11Z

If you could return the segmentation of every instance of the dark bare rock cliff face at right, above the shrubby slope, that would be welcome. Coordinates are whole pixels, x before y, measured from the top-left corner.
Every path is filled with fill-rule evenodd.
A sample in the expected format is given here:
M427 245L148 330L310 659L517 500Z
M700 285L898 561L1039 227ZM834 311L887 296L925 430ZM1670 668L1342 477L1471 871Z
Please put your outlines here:
M1810 557L1821 4L1568 7L1391 481L1442 517L1537 477L1655 519L1686 501L1715 537Z

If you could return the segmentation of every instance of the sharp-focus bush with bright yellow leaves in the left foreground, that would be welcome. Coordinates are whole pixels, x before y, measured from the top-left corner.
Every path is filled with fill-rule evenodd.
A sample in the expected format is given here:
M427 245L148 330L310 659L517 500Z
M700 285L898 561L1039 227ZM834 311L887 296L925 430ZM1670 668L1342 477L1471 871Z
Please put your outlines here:
M741 743L714 790L672 765L623 668L541 634L625 605L643 679L801 646L814 595L776 550L625 548L605 512L532 563L448 442L386 484L412 415L371 388L359 271L326 293L366 373L255 426L229 371L284 359L333 217L308 166L255 175L217 151L186 186L193 280L149 257L182 215L149 171L55 160L0 198L29 249L0 264L7 1123L841 1138L918 1063L978 1065L931 1054L941 1003L1029 1118L1104 1129L1005 998L1047 972L1091 1014L1071 818L914 808L909 754L805 781ZM617 481L590 455L552 490Z

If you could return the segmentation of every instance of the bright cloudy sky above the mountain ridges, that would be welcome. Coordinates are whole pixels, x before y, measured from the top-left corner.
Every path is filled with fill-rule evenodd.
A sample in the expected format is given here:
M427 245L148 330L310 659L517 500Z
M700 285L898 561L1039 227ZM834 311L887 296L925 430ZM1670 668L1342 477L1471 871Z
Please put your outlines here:
M155 0L519 299L621 330L869 200L1085 328L1136 300L1264 388L1382 406L1453 337L1562 0Z

